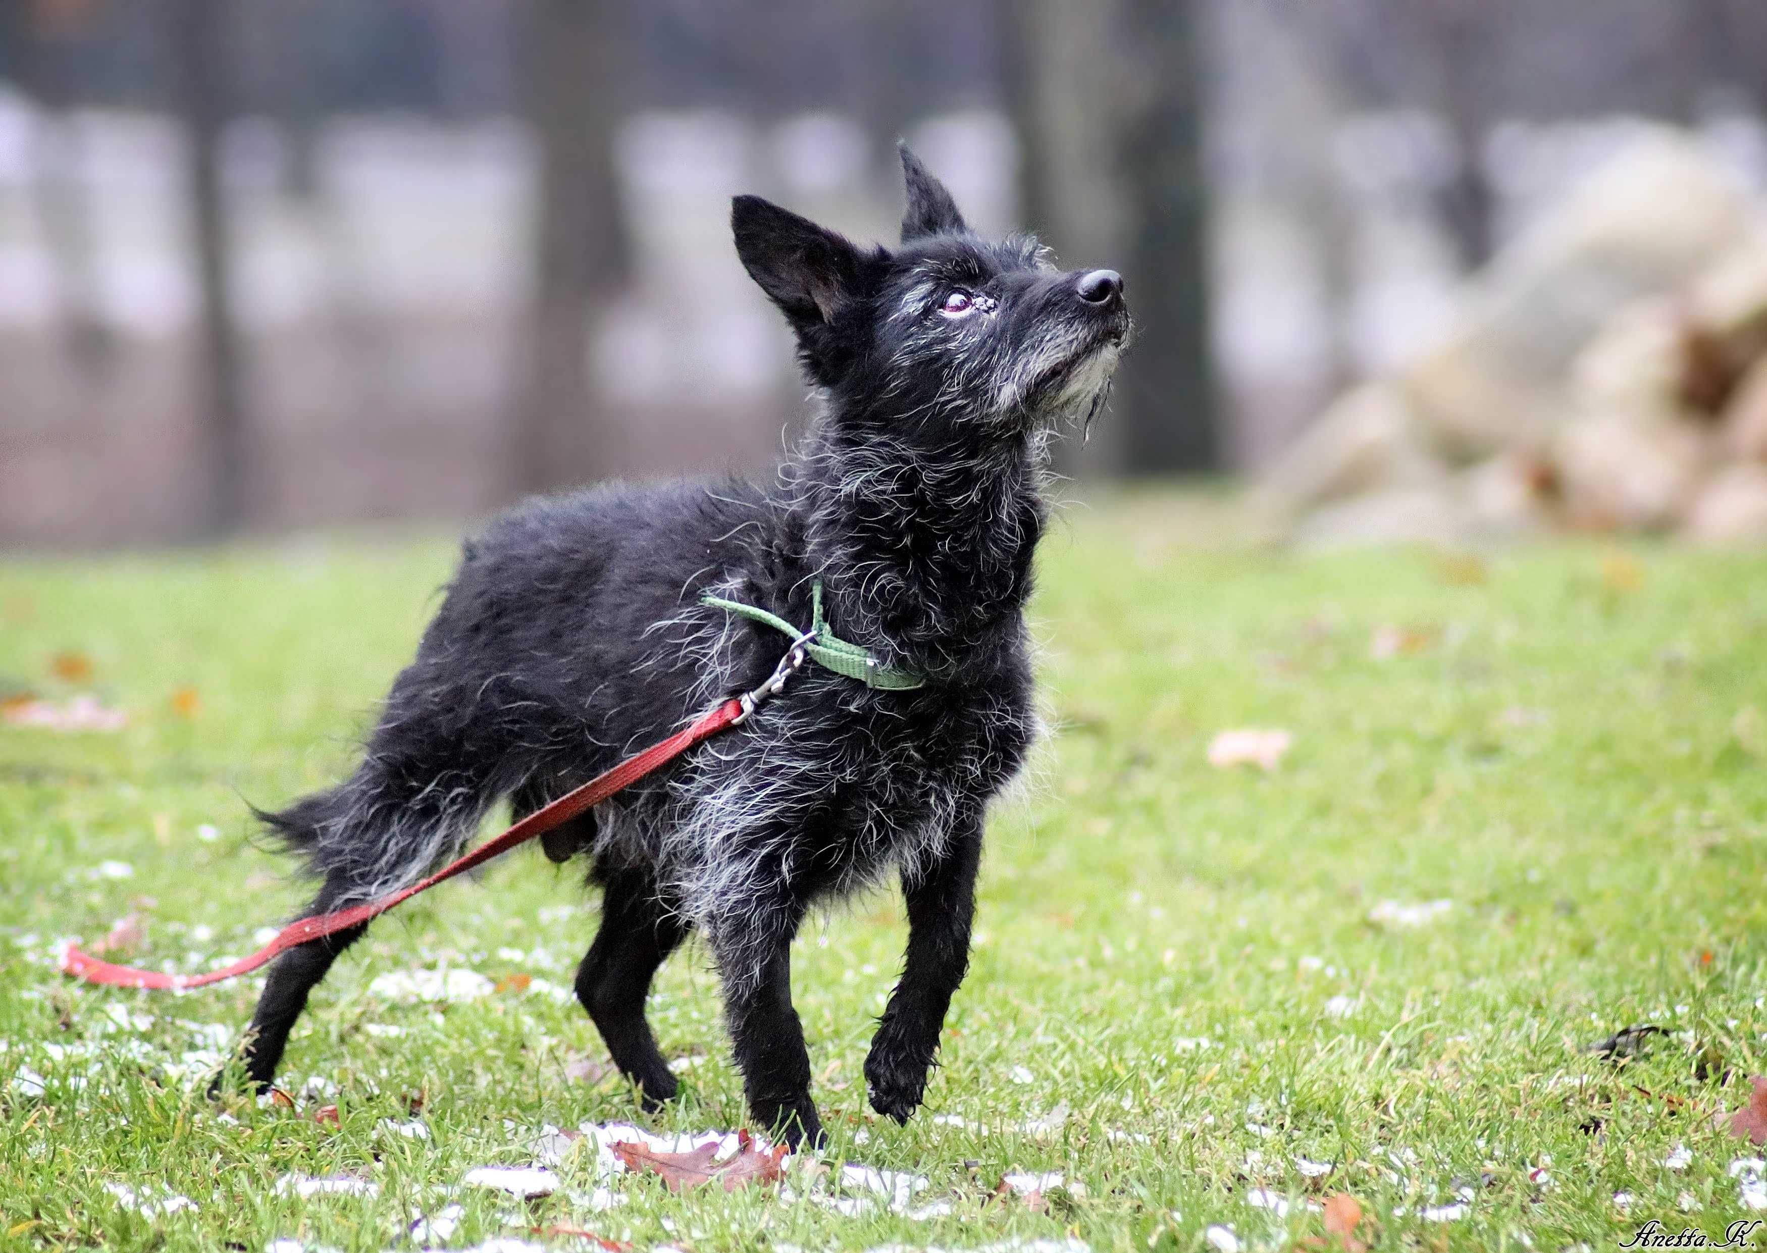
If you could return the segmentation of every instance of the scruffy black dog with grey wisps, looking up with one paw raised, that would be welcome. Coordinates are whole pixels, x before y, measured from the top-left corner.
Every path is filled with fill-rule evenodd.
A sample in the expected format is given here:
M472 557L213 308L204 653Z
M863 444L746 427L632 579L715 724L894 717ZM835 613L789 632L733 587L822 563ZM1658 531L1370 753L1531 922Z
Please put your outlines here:
M866 1060L871 1105L921 1105L968 965L988 801L1035 733L1021 608L1044 527L1043 452L1103 405L1129 330L1111 270L990 244L906 148L901 247L857 247L755 196L737 253L797 332L822 414L779 486L604 486L532 500L465 546L357 772L263 815L323 887L313 912L454 857L502 795L530 813L767 679L790 638L714 594L868 650L873 686L808 664L670 771L553 832L587 854L601 931L576 995L647 1108L675 1094L650 979L698 928L753 1115L818 1142L792 1009L804 912L894 870L901 981ZM820 589L820 596L818 596ZM265 1087L311 988L360 935L283 954L247 1036Z

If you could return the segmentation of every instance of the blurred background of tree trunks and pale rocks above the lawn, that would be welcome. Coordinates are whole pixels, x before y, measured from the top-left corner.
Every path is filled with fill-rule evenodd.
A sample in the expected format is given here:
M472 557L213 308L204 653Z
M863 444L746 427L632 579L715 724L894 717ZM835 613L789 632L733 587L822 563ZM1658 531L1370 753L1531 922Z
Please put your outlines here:
M1064 468L1302 543L1767 535L1760 0L0 0L0 544L767 472L758 191L906 136L1141 339Z

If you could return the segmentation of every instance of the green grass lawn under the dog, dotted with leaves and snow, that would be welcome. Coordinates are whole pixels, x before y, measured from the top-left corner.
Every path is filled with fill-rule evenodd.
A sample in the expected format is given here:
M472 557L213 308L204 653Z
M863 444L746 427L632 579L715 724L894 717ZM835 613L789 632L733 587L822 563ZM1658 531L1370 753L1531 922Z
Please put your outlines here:
M896 900L818 921L795 953L830 1158L926 1175L919 1200L951 1216L631 1177L615 1184L627 1204L594 1212L567 1195L594 1186L578 1152L546 1200L461 1191L451 1242L580 1223L701 1253L1066 1234L1187 1249L1221 1223L1288 1248L1322 1232L1301 1202L1338 1191L1391 1249L1612 1248L1649 1218L1749 1218L1726 1166L1753 1150L1710 1113L1767 1071L1767 562L1592 543L1483 571L1430 551L1302 558L1189 543L1194 509L1168 497L1066 518L1034 604L1053 735L990 824L974 967L906 1128L873 1119L861 1075L903 940ZM131 714L115 735L0 726L0 1246L410 1248L413 1214L472 1166L532 1161L542 1124L640 1117L618 1082L565 1075L603 1057L574 1006L369 990L438 963L569 984L594 905L535 855L383 921L316 993L284 1083L336 1085L336 1129L203 1099L196 1029L237 1039L249 979L170 997L53 968L57 937L95 940L131 910L143 960L193 968L297 905L247 843L246 799L348 763L451 551L306 541L0 566L0 684L90 689ZM1419 647L1376 659L1380 627ZM60 652L92 677L57 679ZM186 687L194 716L173 705ZM1293 748L1270 774L1210 767L1233 726L1286 728ZM94 877L104 861L133 878ZM1389 900L1452 907L1371 921ZM666 968L652 1014L664 1052L705 1057L652 1126L742 1126L703 951ZM1585 1052L1631 1023L1668 1034L1624 1067ZM11 1082L21 1066L41 1097ZM428 1140L382 1128L413 1092ZM1027 1129L1057 1110L1053 1131ZM1677 1145L1686 1170L1663 1165ZM1332 1172L1304 1177L1297 1158ZM1009 1168L1083 1191L1046 1212L990 1200ZM290 1172L360 1172L380 1193L302 1202L274 1189ZM147 1219L108 1182L198 1209ZM1255 1188L1288 1216L1253 1207ZM1465 1218L1419 1212L1460 1188Z

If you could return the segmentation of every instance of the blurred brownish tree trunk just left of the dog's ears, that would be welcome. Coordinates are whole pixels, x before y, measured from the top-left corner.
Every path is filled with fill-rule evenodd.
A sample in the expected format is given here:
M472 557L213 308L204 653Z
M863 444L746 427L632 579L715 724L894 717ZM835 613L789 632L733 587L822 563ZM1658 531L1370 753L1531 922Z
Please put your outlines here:
M527 0L523 83L539 147L539 205L525 359L512 424L514 488L548 491L604 472L590 330L626 277L613 166L629 39L617 0Z

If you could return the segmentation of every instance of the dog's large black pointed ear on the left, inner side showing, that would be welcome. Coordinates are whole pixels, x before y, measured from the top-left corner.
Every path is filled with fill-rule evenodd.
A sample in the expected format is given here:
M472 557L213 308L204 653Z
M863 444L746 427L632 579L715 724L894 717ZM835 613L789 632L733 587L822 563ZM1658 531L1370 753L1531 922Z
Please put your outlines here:
M799 334L832 323L873 290L882 270L880 253L866 253L845 235L760 196L730 201L730 230L742 269Z

